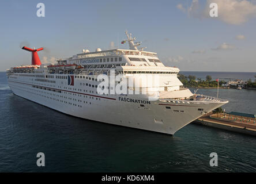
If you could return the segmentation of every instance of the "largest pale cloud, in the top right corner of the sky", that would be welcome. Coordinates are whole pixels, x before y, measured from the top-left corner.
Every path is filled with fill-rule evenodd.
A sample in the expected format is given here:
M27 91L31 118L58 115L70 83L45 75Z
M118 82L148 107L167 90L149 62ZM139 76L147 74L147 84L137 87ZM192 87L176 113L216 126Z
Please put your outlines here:
M217 3L218 17L210 17L210 3ZM184 8L182 4L176 6L179 10L195 18L219 19L227 24L240 25L250 18L256 17L255 1L248 0L207 0L204 7L199 7L198 0L193 0L190 7Z

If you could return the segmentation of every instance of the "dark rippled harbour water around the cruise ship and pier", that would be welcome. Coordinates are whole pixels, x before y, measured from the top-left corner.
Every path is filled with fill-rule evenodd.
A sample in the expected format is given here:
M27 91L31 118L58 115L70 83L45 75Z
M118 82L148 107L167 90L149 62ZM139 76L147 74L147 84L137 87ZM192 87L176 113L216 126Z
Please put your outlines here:
M191 89L194 90L194 89ZM216 95L216 89L198 93ZM255 113L256 90L220 89L225 110ZM255 172L256 137L189 124L174 136L83 120L9 89L0 72L1 172ZM43 152L46 166L37 167ZM210 167L210 153L218 166Z

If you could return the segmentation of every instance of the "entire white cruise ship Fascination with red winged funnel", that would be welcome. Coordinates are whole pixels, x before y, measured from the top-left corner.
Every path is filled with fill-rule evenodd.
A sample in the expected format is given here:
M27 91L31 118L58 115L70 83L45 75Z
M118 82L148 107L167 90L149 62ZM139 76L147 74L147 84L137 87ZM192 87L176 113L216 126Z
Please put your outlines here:
M190 122L227 104L220 98L191 93L157 53L144 51L126 32L129 49L82 53L55 64L41 64L38 51L31 65L6 71L15 95L71 116L174 135Z

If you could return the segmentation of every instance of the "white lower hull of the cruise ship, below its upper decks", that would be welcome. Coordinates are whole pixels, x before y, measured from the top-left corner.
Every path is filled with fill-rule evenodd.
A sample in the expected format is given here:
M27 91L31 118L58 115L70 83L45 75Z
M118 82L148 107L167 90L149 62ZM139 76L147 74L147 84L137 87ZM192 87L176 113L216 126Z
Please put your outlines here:
M59 112L170 135L204 115L204 112L210 112L227 103L160 99L148 101L145 95L100 95L96 94L96 88L81 85L79 80L84 79L74 79L74 86L69 86L67 79L57 79L53 84L35 82L35 78L18 74L11 74L8 78L14 94ZM135 102L130 102L130 99Z

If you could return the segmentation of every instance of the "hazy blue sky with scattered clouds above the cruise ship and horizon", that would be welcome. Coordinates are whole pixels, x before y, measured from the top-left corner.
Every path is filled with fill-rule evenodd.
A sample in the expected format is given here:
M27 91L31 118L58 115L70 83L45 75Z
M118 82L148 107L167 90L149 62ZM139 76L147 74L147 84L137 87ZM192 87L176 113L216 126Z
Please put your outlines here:
M210 3L218 17L210 17ZM37 17L44 3L45 17ZM181 71L256 72L256 0L1 1L0 71L42 63L82 49L127 49L125 30Z

